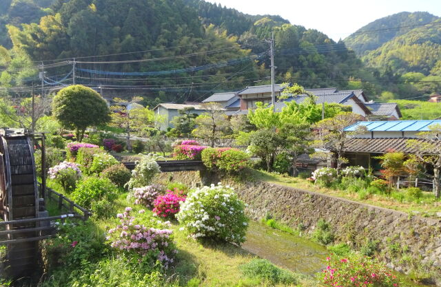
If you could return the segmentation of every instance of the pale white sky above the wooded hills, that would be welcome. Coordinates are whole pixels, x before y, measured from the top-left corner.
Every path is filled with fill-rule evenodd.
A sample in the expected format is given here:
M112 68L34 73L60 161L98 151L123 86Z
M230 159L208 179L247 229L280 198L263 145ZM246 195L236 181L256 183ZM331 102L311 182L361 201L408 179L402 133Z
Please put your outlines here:
M424 11L441 17L440 0L206 0L246 14L276 14L294 25L324 32L334 41L398 12Z

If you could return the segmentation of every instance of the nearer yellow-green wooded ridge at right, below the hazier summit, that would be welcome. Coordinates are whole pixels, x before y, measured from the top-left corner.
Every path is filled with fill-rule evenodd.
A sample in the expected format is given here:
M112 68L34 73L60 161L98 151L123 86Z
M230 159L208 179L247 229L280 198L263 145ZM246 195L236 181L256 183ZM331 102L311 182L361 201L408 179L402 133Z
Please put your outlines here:
M398 36L363 57L367 65L387 67L400 74L429 75L441 59L441 19Z

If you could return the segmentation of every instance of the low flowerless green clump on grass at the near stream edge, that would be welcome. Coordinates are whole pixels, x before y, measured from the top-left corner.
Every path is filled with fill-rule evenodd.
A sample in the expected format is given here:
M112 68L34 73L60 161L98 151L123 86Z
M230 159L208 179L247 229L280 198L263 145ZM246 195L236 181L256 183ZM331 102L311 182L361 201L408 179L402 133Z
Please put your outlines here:
M267 283L274 284L293 284L297 285L298 276L289 270L274 266L267 259L252 259L247 264L240 266L243 275L249 278L258 278Z

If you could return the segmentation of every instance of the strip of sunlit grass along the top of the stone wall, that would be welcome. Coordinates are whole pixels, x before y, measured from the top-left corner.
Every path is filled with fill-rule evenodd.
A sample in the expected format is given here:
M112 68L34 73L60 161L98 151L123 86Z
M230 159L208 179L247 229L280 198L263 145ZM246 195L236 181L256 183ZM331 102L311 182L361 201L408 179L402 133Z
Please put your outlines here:
M367 194L360 196L360 193L319 187L318 185L302 178L293 178L291 176L268 173L266 171L252 171L252 177L256 180L285 185L286 187L305 189L307 191L332 195L338 198L362 202L364 204L380 206L386 209L394 209L396 211L409 213L409 215L416 215L418 213L422 216L435 217L435 213L441 211L441 200L436 200L429 192L423 193L420 202L406 202L404 200L397 200L396 198L393 198L394 193L391 193L391 195ZM396 191L396 193L399 194L400 191Z

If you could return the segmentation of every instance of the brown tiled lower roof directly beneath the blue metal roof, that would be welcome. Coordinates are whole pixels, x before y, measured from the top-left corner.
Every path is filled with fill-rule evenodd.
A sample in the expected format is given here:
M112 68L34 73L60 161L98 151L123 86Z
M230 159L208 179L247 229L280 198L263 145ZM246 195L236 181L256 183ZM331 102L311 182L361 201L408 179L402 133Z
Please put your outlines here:
M418 146L407 145L409 138L351 138L346 145L349 152L387 153L388 151L401 151L403 153L415 153ZM413 139L424 142L424 139ZM440 142L441 145L441 142Z

